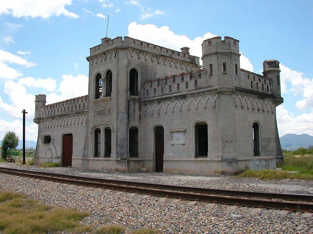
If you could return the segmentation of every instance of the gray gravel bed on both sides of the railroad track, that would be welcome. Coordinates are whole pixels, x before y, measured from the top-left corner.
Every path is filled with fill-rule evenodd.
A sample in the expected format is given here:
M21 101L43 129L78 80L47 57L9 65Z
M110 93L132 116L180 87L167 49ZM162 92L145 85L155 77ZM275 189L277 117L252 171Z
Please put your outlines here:
M81 170L77 168L38 168L17 166L74 175L88 175L100 178L127 179L142 182L180 184L188 186L232 188L268 192L290 193L290 188L301 188L297 193L310 193L313 183L301 180L261 181L254 178L232 178L229 176L195 176L168 173L121 173ZM267 188L262 185L279 185L284 188ZM307 189L306 189L307 188ZM289 190L288 190L289 189ZM143 198L144 195L119 193L110 190L88 188L76 185L20 178L0 174L0 191L24 193L45 204L59 207L74 207L90 212L82 222L98 227L103 224L117 224L131 233L143 227L161 230L161 233L313 233L313 218L301 217L301 212L280 215L277 210L253 213L253 208L239 207L231 210L228 205L199 202L190 205L187 201L161 200L159 197Z

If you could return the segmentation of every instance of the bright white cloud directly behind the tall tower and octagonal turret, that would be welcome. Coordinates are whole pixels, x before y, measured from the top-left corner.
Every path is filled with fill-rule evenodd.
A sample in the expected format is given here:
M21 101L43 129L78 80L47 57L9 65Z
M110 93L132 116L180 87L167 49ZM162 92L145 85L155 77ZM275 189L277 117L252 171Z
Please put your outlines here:
M180 48L187 46L190 48L189 52L191 55L200 58L202 57L202 42L208 38L216 37L216 35L211 32L207 32L202 37L196 37L192 40L185 35L175 34L168 26L158 28L153 24L142 25L137 24L136 22L131 22L128 25L128 36L177 51L180 51ZM201 59L200 64L202 64ZM253 71L253 66L249 59L243 55L240 56L240 67L248 71Z

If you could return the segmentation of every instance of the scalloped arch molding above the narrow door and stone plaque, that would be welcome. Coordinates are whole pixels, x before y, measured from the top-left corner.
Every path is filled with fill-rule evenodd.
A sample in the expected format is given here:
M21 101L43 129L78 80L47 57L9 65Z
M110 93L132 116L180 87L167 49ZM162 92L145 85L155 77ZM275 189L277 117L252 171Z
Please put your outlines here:
M174 101L166 101L162 103L155 103L155 104L148 104L148 105L142 105L141 110L143 111L143 115L147 115L147 111L151 110L151 116L154 114L160 115L161 109L163 110L163 114L166 115L169 111L171 113L175 112L175 108L178 110L178 112L182 112L182 106L187 107L187 111L190 111L191 104L194 104L194 110L198 110L199 103L203 103L203 110L207 109L208 101L211 102L212 108L215 108L216 106L216 100L218 95L205 95L200 97L193 97L193 98L187 98L182 100L174 100Z

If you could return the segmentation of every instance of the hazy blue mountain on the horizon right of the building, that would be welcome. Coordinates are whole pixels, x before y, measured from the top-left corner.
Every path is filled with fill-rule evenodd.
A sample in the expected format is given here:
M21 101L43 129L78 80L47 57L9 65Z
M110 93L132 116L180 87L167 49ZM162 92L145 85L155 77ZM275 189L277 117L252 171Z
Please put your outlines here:
M292 150L298 149L299 147L308 148L313 145L313 136L308 134L286 134L280 137L280 145L282 149L289 149L290 146Z

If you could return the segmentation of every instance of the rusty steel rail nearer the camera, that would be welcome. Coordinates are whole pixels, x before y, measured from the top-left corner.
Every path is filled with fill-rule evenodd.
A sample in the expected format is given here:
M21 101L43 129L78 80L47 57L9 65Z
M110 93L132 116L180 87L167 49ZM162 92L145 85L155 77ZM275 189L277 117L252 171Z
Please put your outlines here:
M204 195L204 194L193 194L193 193L182 193L182 192L173 192L173 191L164 191L164 190L155 190L150 188L136 188L125 185L116 185L116 184L106 184L82 180L74 180L67 178L51 177L31 173L22 173L17 171L9 170L0 170L1 173L29 177L34 179L48 180L58 183L67 183L75 184L81 186L88 186L94 188L105 188L129 193L140 193L151 196L158 197L170 197L177 199L185 199L191 201L199 202L214 202L227 205L237 205L237 206L247 206L247 207L260 207L260 208L269 208L269 209L281 209L281 210L290 210L290 211L302 211L302 212L311 212L313 213L313 204L310 203L297 203L297 202L278 202L278 201L269 201L269 200L255 200L247 198L234 198L234 197L221 197L214 195Z

